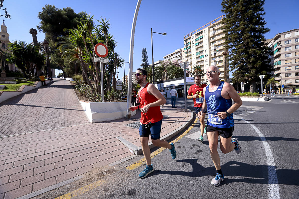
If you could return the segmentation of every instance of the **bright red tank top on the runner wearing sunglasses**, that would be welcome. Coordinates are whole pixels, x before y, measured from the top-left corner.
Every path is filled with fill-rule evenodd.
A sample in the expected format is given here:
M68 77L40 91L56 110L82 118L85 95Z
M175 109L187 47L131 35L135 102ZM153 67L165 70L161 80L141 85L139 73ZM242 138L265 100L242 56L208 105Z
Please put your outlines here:
M158 101L158 99L147 92L147 86L149 85L149 82L142 90L139 90L138 92L138 99L140 102L140 107L144 107L147 104L153 103L155 101ZM142 124L148 124L149 122L155 123L160 121L163 118L163 115L160 110L160 106L157 107L150 107L146 113L141 113L140 122Z

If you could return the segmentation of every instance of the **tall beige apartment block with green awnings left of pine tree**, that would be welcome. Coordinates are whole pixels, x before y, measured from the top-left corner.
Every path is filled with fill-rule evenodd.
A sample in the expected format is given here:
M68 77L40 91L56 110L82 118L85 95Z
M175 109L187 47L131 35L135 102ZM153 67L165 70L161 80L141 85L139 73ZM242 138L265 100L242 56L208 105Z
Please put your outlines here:
M206 71L210 65L215 65L220 69L219 78L224 80L224 57L222 53L228 52L224 48L224 35L222 15L204 26L194 30L184 36L183 62L189 62L189 71L193 70L195 65L204 67ZM229 77L229 68L227 64L227 78ZM204 81L208 82L207 77Z

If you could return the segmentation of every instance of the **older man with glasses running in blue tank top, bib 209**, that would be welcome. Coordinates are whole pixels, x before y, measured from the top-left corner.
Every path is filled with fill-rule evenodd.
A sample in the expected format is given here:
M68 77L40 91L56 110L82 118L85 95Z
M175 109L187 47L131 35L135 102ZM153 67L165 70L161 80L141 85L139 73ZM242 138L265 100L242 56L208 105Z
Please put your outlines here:
M237 153L241 152L237 139L231 136L234 132L233 112L242 105L242 100L231 84L219 80L219 68L208 67L206 75L210 84L203 89L204 103L202 111L198 112L198 117L204 117L203 113L205 110L208 111L207 137L210 155L216 168L216 177L212 179L211 184L218 186L224 180L217 151L218 137L220 135L222 153L229 153L233 150ZM231 99L235 102L233 105L231 105Z

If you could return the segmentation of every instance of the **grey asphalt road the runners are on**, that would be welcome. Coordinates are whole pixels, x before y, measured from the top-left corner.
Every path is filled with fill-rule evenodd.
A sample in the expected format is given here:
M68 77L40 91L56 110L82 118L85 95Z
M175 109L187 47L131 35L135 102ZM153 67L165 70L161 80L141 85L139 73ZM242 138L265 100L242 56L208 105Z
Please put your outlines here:
M196 124L176 142L175 160L168 149L152 158L155 171L147 178L138 178L144 165L133 170L125 168L143 158L140 155L113 167L94 170L87 178L38 198L56 198L72 190L68 199L298 198L299 96L269 98L267 102L243 102L234 113L233 137L238 139L242 152L222 154L218 150L225 176L218 187L210 184L216 170L206 136L203 143L197 140L199 124ZM183 102L183 98L177 99L178 105ZM192 103L188 100L187 108L193 110Z

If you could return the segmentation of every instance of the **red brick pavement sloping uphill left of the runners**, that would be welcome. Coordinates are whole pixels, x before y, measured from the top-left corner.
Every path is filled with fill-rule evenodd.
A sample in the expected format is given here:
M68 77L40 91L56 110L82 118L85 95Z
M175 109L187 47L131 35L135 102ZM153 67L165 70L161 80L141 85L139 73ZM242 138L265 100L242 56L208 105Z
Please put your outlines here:
M10 104L7 101L4 102L4 105L1 104L5 108L3 109L5 113L3 113L2 107L0 107L2 115L16 120L27 120L29 125L28 128L15 125L16 129L19 129L17 132L13 131L13 123L4 122L5 128L11 130L12 136L3 136L9 134L8 130L6 130L6 134L0 134L0 199L17 198L30 194L82 175L91 171L92 168L118 163L130 158L132 154L118 137L122 137L136 146L141 146L139 130L124 126L139 121L140 112L131 119L87 123L84 112L80 111L82 108L74 91L68 87L68 81L60 80L55 83L53 86L42 88L42 91L39 89L36 92L28 93L31 101L36 96L48 93L47 90L52 93L51 98L48 97L47 100L41 101L43 103L47 101L51 106L37 103L38 105L30 107L30 109L34 109L33 114L47 109L55 112L53 114L56 114L57 118L63 118L56 120L45 114L34 114L39 121L51 120L53 126L48 128L49 130L33 132L34 129L40 128L40 123L31 122L28 117L25 117L25 113L19 115L15 112L7 112L13 108L18 108L20 112L25 112L22 111L22 108L28 111L28 107L25 105L15 105L16 103L34 104L30 102L30 97L26 96L27 93L23 97L17 96L18 100L10 100ZM64 99L55 94L54 89L63 95ZM67 96L63 93L67 93ZM11 108L9 108L10 106ZM45 108L54 106L57 108ZM162 122L161 137L180 130L193 114L191 111L183 112L183 109L180 108L171 109L170 105L164 107L161 109L162 113L168 117L164 118ZM26 114L30 115L29 112ZM68 123L65 120L65 114L71 118ZM70 115L74 115L74 117L70 117ZM76 118L80 118L80 120ZM78 124L80 122L81 124ZM74 124L77 125L72 126ZM16 135L19 133L23 134Z

